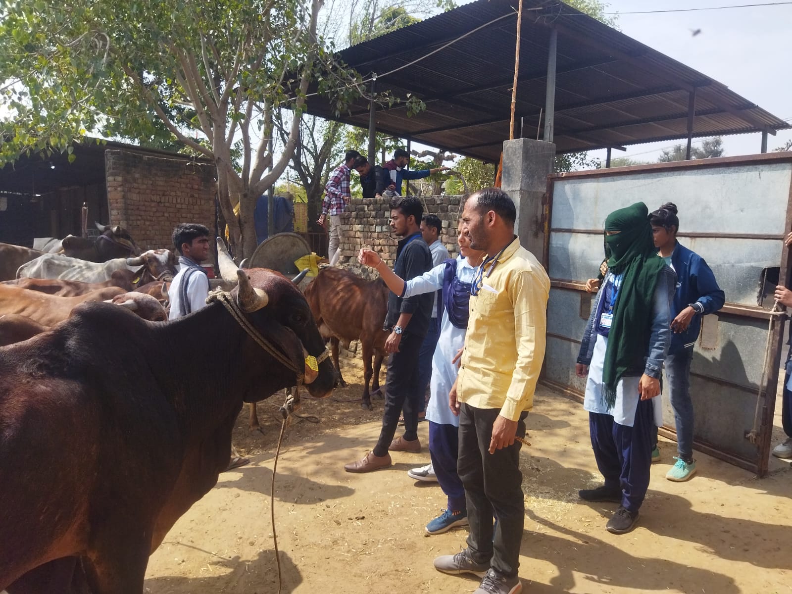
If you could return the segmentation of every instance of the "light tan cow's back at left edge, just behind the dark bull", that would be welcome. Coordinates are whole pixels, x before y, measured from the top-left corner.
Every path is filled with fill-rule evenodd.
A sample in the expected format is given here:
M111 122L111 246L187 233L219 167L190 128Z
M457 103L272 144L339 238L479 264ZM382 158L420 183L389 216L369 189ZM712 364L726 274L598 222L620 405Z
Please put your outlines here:
M81 303L105 301L126 292L120 287L105 287L78 297L59 297L41 291L0 285L0 315L24 315L43 326L55 326L68 318L71 310Z

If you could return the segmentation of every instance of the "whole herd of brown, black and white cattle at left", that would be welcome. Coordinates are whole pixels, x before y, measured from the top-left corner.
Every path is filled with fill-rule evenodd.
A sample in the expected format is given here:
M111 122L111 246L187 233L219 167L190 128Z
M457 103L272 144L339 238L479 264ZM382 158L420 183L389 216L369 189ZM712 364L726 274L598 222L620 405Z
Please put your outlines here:
M356 339L364 406L379 388L382 281L326 268L303 295L219 242L233 288L164 322L173 252L99 228L63 253L0 244L0 592L141 594L149 555L227 466L243 402L300 380L325 398Z

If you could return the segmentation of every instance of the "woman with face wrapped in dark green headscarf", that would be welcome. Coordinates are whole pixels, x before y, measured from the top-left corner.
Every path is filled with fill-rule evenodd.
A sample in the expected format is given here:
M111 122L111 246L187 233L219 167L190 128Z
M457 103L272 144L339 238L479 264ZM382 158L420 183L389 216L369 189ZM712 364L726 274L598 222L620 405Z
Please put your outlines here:
M605 484L581 489L585 501L619 502L607 530L629 532L638 520L652 464L652 438L663 417L659 398L671 342L676 273L657 256L642 202L605 220L607 274L577 357L586 377L584 409L597 467ZM657 424L657 425L656 425Z

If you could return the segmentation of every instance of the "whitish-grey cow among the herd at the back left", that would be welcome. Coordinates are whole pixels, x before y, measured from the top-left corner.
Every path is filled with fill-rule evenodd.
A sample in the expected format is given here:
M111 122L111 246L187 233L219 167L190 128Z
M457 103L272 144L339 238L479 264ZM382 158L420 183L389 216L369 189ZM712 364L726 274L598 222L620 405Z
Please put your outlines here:
M19 267L17 278L81 280L83 283L104 283L115 270L141 268L137 284L162 280L176 274L176 259L169 249L150 249L138 257L116 258L106 262L89 262L45 253Z

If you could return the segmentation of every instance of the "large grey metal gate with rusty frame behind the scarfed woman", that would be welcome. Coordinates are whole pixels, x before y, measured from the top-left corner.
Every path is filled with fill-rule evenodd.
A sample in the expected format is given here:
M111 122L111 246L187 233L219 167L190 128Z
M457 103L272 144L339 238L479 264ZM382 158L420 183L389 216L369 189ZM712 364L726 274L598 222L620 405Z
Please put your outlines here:
M760 390L774 303L769 287L789 286L792 264L782 241L792 230L790 153L551 175L543 253L551 280L543 383L582 400L585 383L574 364L592 305L584 283L596 276L603 259L605 217L638 201L649 211L665 202L677 205L680 242L704 257L726 295L725 307L707 320L691 365L694 446L761 476L767 471L784 342L784 321L777 317ZM702 348L701 341L710 348ZM661 434L673 439L667 395L663 402ZM756 444L746 438L752 428L759 430Z

